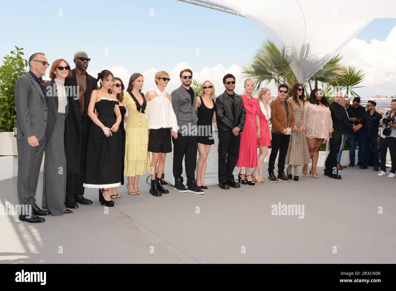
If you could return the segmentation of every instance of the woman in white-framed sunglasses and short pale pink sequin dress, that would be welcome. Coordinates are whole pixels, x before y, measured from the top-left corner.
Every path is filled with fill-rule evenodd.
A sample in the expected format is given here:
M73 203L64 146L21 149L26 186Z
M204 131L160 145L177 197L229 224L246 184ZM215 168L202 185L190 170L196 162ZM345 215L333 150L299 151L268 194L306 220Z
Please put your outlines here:
M309 175L319 179L316 172L319 150L324 140L328 141L333 134L333 121L329 102L320 89L313 89L305 103L305 136L307 137L309 156L312 159Z

